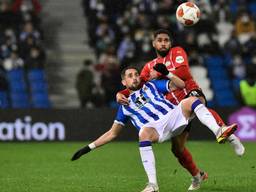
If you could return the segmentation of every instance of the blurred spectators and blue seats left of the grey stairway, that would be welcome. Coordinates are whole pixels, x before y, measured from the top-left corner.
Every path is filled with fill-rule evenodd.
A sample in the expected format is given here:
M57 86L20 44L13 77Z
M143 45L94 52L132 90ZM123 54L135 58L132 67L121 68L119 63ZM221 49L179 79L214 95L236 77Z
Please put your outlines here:
M48 108L38 0L0 1L1 108Z

